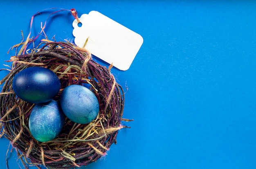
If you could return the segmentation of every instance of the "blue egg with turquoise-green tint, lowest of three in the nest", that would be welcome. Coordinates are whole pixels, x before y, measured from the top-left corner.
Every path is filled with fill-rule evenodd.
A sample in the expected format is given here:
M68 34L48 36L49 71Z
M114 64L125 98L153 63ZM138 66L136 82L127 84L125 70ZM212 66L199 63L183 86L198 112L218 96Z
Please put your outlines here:
M29 130L36 140L49 141L61 132L64 121L65 115L58 102L52 100L34 106L29 116Z

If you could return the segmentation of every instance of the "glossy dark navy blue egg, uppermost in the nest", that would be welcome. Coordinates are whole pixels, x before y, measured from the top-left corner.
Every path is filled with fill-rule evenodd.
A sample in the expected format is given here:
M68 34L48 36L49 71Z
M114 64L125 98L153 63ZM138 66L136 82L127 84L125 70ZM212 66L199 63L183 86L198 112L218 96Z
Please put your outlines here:
M52 70L29 67L14 76L12 87L15 94L24 101L46 103L58 94L61 83Z

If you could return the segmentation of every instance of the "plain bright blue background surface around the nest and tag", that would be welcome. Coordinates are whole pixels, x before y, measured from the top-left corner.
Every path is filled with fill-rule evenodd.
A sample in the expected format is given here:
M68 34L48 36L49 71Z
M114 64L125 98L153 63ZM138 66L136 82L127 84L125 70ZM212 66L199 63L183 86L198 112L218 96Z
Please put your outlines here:
M123 124L131 128L122 129L117 145L86 169L256 168L256 1L0 4L1 64L9 64L7 51L20 42L21 30L27 37L31 16L52 7L75 8L79 16L99 11L144 38L129 70L112 69L128 88L123 117L134 121ZM32 35L48 15L36 16ZM49 39L72 40L73 20L67 11L52 15L45 30ZM0 139L1 169L8 145ZM14 150L7 157L10 169L21 165Z

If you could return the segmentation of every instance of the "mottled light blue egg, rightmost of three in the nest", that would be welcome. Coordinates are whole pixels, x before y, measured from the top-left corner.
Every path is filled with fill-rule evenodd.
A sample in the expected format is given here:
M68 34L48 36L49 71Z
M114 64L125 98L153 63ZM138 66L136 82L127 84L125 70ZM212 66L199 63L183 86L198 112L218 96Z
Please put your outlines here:
M61 94L60 103L64 114L75 123L90 123L99 113L97 97L84 86L67 86Z

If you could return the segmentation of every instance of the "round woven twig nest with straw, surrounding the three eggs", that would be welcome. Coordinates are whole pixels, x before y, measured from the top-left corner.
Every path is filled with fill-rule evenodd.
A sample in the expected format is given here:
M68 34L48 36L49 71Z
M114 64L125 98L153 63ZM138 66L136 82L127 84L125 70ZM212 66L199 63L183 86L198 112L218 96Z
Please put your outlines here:
M17 149L24 165L44 165L47 168L70 169L88 165L105 156L116 143L124 110L124 91L115 81L110 68L92 60L90 52L68 42L45 42L27 54L11 57L13 66L0 83L1 134ZM13 92L14 75L21 70L41 66L55 72L61 81L61 90L54 100L60 99L63 89L71 84L90 84L99 101L99 114L89 124L77 124L65 119L61 133L48 142L38 142L28 127L29 114L34 104L19 99Z

